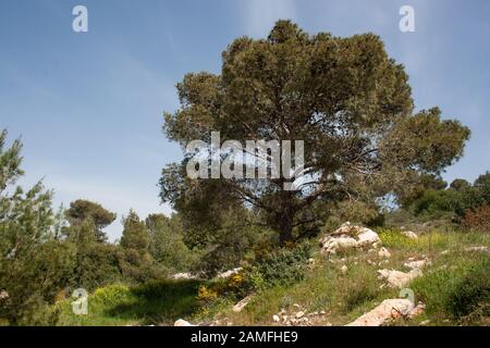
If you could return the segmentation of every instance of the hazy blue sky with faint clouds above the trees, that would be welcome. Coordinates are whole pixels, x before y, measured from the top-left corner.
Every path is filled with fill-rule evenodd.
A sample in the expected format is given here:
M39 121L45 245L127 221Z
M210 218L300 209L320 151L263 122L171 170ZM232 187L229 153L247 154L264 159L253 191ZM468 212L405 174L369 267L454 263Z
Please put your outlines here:
M88 33L72 30L72 9L88 9ZM401 33L399 9L415 10ZM439 105L473 130L465 157L444 177L490 170L489 1L1 0L0 128L22 136L22 184L44 177L58 206L96 200L119 215L169 213L157 182L181 159L161 133L187 72L220 70L235 37L264 37L278 18L309 33L372 32L405 64L417 109Z

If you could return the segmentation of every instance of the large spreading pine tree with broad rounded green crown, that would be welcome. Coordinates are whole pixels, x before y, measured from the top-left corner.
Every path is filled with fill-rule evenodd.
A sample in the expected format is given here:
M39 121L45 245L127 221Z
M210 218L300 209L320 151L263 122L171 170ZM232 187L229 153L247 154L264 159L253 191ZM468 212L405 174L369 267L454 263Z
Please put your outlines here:
M414 112L408 75L378 36L308 35L290 21L279 21L265 39L235 39L220 74L189 73L177 92L181 108L166 114L164 132L183 148L210 144L212 132L243 147L304 141L304 179L295 190L284 189L283 176L192 178L188 157L160 181L162 200L189 224L208 226L230 207L252 207L282 243L321 223L336 202L404 197L457 160L469 137L438 108Z

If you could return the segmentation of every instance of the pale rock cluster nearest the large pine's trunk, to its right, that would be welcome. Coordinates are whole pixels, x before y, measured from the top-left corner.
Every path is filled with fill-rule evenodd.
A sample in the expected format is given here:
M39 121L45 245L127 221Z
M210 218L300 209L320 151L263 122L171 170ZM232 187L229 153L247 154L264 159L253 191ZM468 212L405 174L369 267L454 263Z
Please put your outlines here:
M355 248L376 248L380 244L381 240L376 232L352 225L350 222L320 239L321 253L326 256Z

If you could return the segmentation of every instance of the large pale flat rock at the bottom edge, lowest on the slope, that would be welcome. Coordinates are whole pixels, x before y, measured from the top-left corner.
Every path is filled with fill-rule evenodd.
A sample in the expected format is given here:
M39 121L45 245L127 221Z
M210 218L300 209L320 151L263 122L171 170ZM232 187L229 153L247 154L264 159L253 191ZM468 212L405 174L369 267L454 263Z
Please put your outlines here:
M424 304L414 303L404 298L388 299L377 306L373 310L359 316L346 326L381 326L389 321L401 316L414 318L424 311Z

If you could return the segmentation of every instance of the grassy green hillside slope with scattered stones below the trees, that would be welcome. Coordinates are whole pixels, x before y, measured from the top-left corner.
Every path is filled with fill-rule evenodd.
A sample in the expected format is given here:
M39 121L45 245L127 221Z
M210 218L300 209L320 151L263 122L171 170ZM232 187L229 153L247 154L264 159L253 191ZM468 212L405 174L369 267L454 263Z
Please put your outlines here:
M431 231L411 239L380 231L379 236L388 253L347 251L327 258L315 249L303 279L264 285L240 312L233 310L236 294L198 297L199 287L210 289L215 282L188 279L99 288L88 298L88 315L74 315L70 300L53 309L61 312L60 325L173 325L177 319L200 325L346 325L408 288L424 312L384 324L490 323L488 234ZM419 273L401 287L390 286L379 272L409 274L414 264Z

